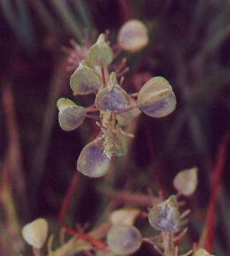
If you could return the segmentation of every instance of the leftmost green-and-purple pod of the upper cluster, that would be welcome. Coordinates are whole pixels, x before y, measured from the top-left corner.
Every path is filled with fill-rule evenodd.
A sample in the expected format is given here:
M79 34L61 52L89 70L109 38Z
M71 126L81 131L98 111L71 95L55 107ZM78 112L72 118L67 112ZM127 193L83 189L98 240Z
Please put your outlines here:
M77 106L70 99L62 98L57 101L57 107L59 124L64 131L72 131L84 122L86 110L83 106Z

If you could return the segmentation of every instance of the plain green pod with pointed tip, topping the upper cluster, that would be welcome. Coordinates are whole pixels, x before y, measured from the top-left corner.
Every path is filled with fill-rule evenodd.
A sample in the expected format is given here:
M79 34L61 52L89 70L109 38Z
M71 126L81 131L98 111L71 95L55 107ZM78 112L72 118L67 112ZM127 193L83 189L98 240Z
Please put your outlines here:
M102 66L105 67L112 63L113 52L112 49L105 42L105 35L101 34L97 42L90 47L88 52L88 60L92 66Z

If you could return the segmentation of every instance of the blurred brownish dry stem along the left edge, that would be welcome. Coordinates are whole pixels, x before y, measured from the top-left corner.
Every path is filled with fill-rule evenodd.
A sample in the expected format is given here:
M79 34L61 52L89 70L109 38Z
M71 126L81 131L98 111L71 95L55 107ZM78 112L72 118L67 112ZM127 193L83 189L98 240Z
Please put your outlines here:
M11 91L11 85L4 83L1 92L8 138L0 180L1 204L4 212L4 222L2 226L5 229L4 236L8 237L9 240L8 242L13 253L11 255L16 255L23 250L24 242L21 239L21 228L16 212L14 194L17 195L16 200L20 204L25 196L25 182L21 168L19 132L16 125L14 97ZM26 206L24 209L26 209Z

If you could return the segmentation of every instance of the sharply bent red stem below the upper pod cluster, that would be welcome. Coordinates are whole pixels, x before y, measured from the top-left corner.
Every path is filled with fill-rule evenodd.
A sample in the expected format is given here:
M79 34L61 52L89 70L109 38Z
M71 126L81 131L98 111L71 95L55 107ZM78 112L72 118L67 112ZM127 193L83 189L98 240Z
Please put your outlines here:
M80 239L84 240L85 242L88 242L92 244L93 246L97 247L98 249L102 250L107 250L107 244L101 242L100 240L96 239L95 237L91 237L88 234L85 234L83 232L78 232L75 229L72 229L71 227L68 227L67 224L64 222L64 215L67 212L67 208L70 204L72 194L75 191L75 188L77 186L78 180L80 178L80 173L76 172L74 177L72 178L72 182L67 190L66 195L64 196L64 201L62 203L62 208L59 212L59 221L64 228L64 230L68 233L71 234L72 236L77 236L80 237Z

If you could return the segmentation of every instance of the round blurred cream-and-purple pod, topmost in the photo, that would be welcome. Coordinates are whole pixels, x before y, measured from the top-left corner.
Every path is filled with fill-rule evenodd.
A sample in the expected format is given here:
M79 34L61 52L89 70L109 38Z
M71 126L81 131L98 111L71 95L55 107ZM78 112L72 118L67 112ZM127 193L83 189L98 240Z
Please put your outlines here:
M132 19L120 28L118 42L127 52L138 52L148 45L148 31L143 22Z

